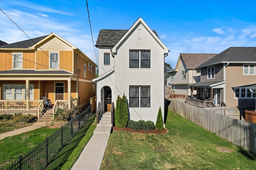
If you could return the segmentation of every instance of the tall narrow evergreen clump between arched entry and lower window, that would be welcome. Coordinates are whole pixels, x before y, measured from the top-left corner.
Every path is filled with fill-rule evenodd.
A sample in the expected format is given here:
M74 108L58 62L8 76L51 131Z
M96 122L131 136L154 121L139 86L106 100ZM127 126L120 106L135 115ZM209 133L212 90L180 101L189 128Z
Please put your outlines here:
M120 128L125 128L128 122L128 109L126 96L122 98L117 96L116 100L116 110L115 110L115 126Z

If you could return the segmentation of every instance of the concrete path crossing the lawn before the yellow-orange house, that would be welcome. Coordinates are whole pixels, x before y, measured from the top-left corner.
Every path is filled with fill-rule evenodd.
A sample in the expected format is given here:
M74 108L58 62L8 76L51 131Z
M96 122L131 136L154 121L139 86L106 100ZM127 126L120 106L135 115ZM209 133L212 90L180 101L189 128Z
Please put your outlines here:
M2 134L0 134L0 140L4 139L5 137L19 135L19 134L24 133L24 132L28 132L28 131L32 131L34 129L38 129L40 127L46 126L47 124L49 124L49 122L41 122L40 121L40 122L36 122L36 123L34 123L33 125L30 125L30 126L22 127L20 129L14 130L14 131L2 133Z

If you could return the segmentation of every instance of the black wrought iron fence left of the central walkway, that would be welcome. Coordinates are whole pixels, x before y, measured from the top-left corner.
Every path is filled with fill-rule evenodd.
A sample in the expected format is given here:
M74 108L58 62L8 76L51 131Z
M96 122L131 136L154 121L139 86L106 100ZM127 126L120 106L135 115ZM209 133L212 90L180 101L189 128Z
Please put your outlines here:
M37 147L24 155L20 155L18 160L6 168L6 170L42 170L48 165L48 162L60 151L76 132L86 123L92 115L91 106L88 106L82 113L71 119L58 131Z

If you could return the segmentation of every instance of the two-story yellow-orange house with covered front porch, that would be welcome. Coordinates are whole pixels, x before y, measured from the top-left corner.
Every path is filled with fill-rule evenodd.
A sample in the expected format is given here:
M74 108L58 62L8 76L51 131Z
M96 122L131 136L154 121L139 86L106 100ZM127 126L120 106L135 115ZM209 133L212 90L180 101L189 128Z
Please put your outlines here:
M96 95L97 65L55 33L0 45L0 61L0 113L41 114L42 97L82 109Z

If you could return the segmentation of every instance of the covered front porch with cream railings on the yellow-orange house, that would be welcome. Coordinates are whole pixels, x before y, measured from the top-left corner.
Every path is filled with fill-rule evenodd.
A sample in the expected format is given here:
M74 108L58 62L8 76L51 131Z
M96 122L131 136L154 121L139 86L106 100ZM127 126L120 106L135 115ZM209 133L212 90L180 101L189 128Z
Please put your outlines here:
M69 74L3 78L0 81L0 113L31 113L39 119L46 109L45 102L50 102L53 115L59 107L78 107L77 78Z

